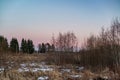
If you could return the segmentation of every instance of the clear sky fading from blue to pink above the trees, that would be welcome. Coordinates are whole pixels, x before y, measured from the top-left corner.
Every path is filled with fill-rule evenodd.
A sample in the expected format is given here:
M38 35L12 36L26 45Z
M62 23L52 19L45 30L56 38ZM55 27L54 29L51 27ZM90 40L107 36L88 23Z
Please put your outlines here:
M0 35L50 42L72 31L81 45L90 34L120 17L120 0L0 0Z

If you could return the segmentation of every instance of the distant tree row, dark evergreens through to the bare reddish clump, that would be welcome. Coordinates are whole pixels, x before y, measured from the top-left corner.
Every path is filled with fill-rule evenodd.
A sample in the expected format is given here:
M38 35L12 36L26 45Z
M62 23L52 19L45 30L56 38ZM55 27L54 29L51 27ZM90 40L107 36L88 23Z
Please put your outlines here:
M78 46L77 37L73 32L59 33L58 37L52 36L50 43L38 44L38 53L45 52L75 52ZM0 36L0 52L13 52L13 53L34 53L35 48L33 41L28 39L21 40L21 46L18 43L17 38L12 38L10 44L8 44L7 38Z

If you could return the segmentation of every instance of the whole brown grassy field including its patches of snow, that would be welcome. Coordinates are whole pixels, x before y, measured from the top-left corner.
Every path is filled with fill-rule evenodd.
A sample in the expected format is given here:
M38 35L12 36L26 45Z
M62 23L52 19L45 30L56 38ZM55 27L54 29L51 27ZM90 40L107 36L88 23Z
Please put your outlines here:
M120 80L109 68L92 71L80 65L78 53L3 53L0 80Z

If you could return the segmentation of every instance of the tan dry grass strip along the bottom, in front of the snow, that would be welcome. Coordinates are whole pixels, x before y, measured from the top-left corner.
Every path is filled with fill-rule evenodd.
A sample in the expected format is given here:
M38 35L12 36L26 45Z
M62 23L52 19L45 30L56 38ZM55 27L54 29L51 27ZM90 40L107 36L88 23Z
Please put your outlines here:
M115 77L116 74L114 73L99 73L95 74L89 70L85 70L84 73L78 73L82 75L80 78L72 78L69 74L64 73L61 74L58 71L51 71L51 72L23 72L19 73L16 70L11 70L6 73L0 74L0 80L37 80L40 76L48 76L49 80L89 80L95 79L97 77L104 78L105 76L108 77L106 80L119 80L120 78ZM112 76L111 76L112 74ZM112 77L112 78L111 78Z

